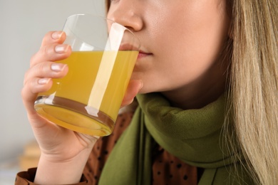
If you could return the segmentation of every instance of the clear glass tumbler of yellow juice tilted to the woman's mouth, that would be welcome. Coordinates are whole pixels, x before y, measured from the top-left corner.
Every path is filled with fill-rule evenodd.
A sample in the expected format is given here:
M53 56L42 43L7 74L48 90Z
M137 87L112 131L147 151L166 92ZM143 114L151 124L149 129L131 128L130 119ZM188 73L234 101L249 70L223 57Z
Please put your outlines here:
M71 56L58 63L68 74L53 79L34 107L51 122L84 134L113 132L125 90L138 57L140 41L119 23L91 14L69 16L63 26Z

